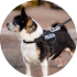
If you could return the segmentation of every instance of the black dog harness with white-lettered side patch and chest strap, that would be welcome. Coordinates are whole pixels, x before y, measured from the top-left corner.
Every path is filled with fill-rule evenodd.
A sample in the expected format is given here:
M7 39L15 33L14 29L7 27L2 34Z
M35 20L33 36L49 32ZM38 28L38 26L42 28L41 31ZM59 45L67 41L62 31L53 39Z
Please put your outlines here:
M35 38L33 42L25 42L24 43L31 44L31 43L44 43L47 44L50 47L50 52L53 54L53 47L57 46L56 44L56 35L54 32L51 32L50 30L43 30L43 34Z

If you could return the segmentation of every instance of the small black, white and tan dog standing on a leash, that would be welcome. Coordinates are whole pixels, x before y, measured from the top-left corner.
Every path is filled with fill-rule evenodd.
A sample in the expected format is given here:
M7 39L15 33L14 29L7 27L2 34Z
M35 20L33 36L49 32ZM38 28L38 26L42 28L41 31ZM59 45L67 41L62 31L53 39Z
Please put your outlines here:
M26 66L25 76L31 77L30 63L40 64L43 77L47 77L47 61L55 59L67 47L72 56L75 54L75 43L65 26L54 32L56 35L55 45L52 45L52 51L50 51L50 46L43 43L44 30L34 19L26 15L24 8L20 15L13 18L12 23L7 23L7 28L14 32L21 41L21 53Z

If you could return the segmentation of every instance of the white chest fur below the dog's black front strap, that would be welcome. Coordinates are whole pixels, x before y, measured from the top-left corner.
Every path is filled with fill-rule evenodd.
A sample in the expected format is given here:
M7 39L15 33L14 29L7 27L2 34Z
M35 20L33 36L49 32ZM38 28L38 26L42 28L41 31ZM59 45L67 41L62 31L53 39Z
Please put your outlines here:
M36 44L25 44L25 43L21 43L21 53L23 55L23 57L31 63L38 63L38 56L37 56L37 52L36 52Z

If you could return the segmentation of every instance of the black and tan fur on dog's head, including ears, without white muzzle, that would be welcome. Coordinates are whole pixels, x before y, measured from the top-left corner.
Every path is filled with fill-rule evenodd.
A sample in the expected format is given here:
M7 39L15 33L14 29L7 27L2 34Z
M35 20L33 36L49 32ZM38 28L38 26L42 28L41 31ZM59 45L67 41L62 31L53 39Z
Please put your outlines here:
M32 22L32 24L28 25L28 23ZM21 15L18 15L13 19L13 24L16 23L20 26L20 32L25 29L28 33L32 33L36 30L36 23L32 21L32 18L28 16L24 8L21 10Z

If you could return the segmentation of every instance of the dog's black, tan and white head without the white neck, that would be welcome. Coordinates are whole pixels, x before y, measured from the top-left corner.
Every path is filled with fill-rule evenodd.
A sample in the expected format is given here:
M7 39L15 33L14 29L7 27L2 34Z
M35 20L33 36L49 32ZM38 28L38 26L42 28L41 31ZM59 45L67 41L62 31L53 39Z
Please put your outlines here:
M32 33L36 29L36 23L26 15L24 8L21 10L21 15L14 16L12 23L7 23L8 30L12 32L21 32L23 29L26 33Z

